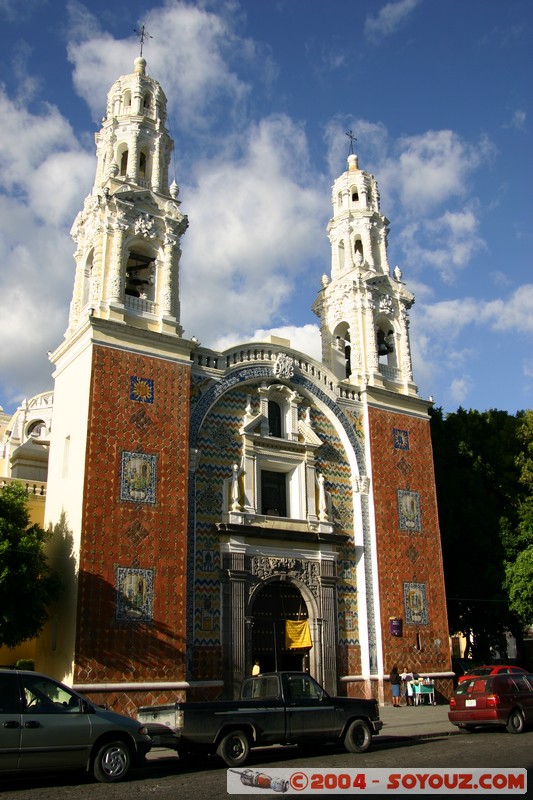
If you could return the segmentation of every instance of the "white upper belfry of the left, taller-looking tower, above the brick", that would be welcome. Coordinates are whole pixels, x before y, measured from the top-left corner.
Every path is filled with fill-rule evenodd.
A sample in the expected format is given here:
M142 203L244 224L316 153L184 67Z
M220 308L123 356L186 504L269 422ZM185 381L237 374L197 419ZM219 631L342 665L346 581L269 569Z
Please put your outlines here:
M115 81L96 134L96 179L72 227L76 277L67 338L88 316L181 336L179 241L187 228L169 187L167 100L146 61Z

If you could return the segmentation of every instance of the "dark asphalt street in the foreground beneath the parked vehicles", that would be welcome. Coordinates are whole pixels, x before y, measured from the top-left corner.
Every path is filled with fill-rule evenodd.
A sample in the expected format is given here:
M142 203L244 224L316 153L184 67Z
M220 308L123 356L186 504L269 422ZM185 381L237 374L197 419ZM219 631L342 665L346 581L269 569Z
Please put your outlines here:
M277 768L400 770L444 767L465 770L475 767L526 767L531 772L530 793L533 786L533 731L512 736L503 731L487 730L473 735L429 739L406 737L393 740L380 736L374 740L372 749L363 755L351 755L341 748L329 746L322 747L319 755L303 755L297 748L276 748L276 758L272 755L272 749L255 751L247 767L267 774L274 774ZM153 756L124 783L96 783L79 773L41 776L32 780L4 776L0 795L2 800L131 800L132 795L135 798L154 797L157 800L222 800L229 797L226 792L227 770L217 758L202 759L198 769L194 769L182 765L169 751L155 751ZM355 794L353 792L349 796L354 797ZM265 793L261 794L258 790L257 794L249 796L265 797ZM313 796L339 795L313 793ZM378 796L386 795L372 795ZM388 796L394 795L391 793ZM426 796L431 796L431 793L426 793ZM483 794L469 795L473 796L482 797Z

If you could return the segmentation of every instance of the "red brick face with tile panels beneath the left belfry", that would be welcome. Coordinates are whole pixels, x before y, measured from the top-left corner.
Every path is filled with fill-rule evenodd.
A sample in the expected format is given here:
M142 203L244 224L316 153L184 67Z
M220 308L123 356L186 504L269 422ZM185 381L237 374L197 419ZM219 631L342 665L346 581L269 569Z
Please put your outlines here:
M185 679L189 380L95 347L75 683Z

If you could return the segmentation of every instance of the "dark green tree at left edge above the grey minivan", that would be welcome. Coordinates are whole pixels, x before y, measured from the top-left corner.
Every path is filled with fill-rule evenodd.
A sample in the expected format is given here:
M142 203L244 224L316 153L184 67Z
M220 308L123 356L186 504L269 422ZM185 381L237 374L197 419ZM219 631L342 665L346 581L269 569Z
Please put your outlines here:
M24 486L8 483L0 492L0 646L37 636L59 597L61 578L44 552L50 537L30 523Z

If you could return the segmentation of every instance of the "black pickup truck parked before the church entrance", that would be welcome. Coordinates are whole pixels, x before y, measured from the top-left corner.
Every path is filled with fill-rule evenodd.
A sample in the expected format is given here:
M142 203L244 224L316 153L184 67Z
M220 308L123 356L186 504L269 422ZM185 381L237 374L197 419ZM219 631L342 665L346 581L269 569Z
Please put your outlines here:
M154 747L180 758L216 753L230 767L272 744L341 742L364 753L383 727L376 700L330 697L305 672L262 673L244 681L240 700L144 706L137 718Z

